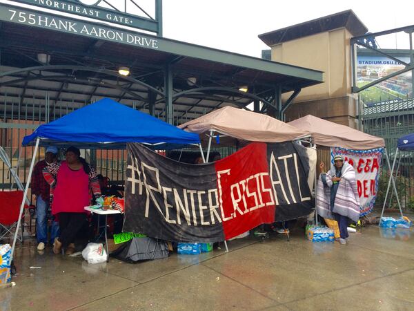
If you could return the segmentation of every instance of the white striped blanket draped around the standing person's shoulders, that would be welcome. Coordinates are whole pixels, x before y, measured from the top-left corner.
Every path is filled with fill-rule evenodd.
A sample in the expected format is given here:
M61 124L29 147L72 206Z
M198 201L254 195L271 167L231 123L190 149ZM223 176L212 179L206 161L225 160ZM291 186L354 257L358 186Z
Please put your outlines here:
M332 178L335 176L335 167L332 167L326 173L326 184L324 187L321 176L317 181L316 193L316 210L317 214L324 218L334 219L332 213L351 218L357 222L359 220L359 196L357 191L357 182L355 180L355 170L351 164L344 162L342 167L341 181L339 181L337 194L333 209L331 210L331 187L333 185Z

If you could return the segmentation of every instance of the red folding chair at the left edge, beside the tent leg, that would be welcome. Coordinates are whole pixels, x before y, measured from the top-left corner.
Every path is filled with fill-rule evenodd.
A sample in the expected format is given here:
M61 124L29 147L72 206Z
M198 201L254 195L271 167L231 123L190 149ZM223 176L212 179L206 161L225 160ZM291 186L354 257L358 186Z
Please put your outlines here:
M20 205L23 200L23 191L0 191L0 239L7 234L12 234L12 229L17 228L20 215ZM25 208L28 205L25 204ZM24 213L21 215L21 237L17 239L23 242Z

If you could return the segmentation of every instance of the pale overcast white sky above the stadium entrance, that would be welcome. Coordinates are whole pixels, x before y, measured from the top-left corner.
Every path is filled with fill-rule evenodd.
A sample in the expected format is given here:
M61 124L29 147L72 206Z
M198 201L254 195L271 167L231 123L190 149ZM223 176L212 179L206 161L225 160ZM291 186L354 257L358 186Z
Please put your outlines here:
M261 57L269 47L257 35L348 9L370 32L414 25L413 0L164 0L163 32L170 39ZM380 48L395 48L395 37L378 38ZM408 48L408 42L408 35L397 35L397 48Z

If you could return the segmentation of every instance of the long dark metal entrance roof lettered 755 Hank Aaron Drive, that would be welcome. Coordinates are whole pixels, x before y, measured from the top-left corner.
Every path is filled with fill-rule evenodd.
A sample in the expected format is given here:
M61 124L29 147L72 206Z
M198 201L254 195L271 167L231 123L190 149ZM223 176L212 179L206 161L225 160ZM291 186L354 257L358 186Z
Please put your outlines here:
M244 107L260 100L272 102L275 88L282 93L322 83L322 72L264 59L229 53L223 50L187 44L162 37L119 30L124 41L76 34L43 26L10 21L7 6L0 3L0 95L8 95L20 104L33 98L43 100L45 93L52 105L88 104L103 97L150 111L155 102L155 115L164 117L166 68L172 70L174 122L192 120L221 106ZM26 14L39 12L19 8ZM41 13L43 20L47 13ZM27 16L27 15L26 15ZM48 15L49 21L55 15ZM113 28L64 17L65 21L85 24L112 33ZM50 25L49 25L50 26ZM80 28L79 28L80 29ZM141 37L141 45L128 44L128 35ZM144 40L145 39L145 40ZM152 40L152 41L151 41ZM152 42L142 46L143 42ZM155 43L156 42L156 43ZM154 48L156 46L156 48ZM47 53L45 66L37 55ZM119 66L128 66L131 75L122 77ZM26 68L26 69L19 69ZM29 69L27 69L29 68ZM195 79L188 79L195 78ZM239 91L248 86L248 92ZM0 106L0 109L2 107ZM30 107L29 107L30 109ZM30 115L30 113L29 113Z

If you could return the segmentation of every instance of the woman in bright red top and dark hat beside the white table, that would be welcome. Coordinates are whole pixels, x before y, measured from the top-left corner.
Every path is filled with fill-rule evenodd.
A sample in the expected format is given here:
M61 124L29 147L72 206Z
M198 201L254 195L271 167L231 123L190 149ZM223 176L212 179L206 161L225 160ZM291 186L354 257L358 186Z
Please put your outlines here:
M92 196L101 195L97 172L81 157L76 147L66 149L66 161L56 162L43 169L52 198L52 214L59 220L60 234L55 238L53 252L61 249L70 255L88 243L88 217L84 207Z

